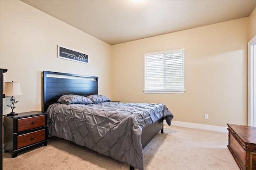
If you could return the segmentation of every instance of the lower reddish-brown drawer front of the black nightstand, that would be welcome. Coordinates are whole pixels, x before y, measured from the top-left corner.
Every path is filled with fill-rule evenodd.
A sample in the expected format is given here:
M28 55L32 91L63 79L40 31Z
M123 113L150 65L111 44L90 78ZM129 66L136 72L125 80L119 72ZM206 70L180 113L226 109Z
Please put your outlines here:
M17 148L45 140L45 129L17 136Z

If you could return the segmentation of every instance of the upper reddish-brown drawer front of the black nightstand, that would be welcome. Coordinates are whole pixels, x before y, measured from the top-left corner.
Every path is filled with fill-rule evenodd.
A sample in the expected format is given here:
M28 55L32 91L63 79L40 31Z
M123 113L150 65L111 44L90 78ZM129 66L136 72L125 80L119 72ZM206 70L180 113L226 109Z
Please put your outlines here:
M18 119L18 132L45 126L45 115Z

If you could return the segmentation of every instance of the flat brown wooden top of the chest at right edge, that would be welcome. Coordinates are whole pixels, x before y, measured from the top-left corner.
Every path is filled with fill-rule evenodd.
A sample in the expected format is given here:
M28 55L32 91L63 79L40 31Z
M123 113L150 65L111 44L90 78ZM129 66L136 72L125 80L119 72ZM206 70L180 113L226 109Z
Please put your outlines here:
M256 144L256 127L227 124L244 142Z

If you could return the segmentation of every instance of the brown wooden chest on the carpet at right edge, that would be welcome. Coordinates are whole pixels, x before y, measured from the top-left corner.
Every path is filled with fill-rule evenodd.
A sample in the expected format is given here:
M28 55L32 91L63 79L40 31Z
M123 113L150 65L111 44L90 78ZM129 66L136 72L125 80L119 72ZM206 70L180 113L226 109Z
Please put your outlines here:
M228 125L228 149L241 170L256 170L256 127Z

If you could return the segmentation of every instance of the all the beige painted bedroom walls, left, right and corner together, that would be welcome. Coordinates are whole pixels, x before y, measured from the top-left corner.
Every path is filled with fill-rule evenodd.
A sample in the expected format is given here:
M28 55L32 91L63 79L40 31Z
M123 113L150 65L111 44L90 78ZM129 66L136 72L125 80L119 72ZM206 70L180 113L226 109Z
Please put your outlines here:
M255 20L254 9L248 18L111 47L21 1L0 0L0 68L8 69L5 81L21 82L16 112L41 110L46 70L98 76L100 94L164 103L174 121L247 125L247 43L256 35ZM88 53L89 65L57 58L57 44ZM185 48L186 93L144 94L144 53L178 48Z

